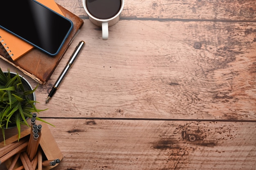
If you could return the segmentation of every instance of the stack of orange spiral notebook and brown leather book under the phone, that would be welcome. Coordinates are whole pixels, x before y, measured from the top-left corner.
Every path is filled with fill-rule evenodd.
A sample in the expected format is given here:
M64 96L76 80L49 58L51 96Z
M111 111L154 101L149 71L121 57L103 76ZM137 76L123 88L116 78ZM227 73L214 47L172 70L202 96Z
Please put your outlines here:
M83 20L56 4L54 0L38 0L38 2L70 19L74 24L61 51L54 57L49 56L27 42L0 29L0 58L9 62L40 84L45 84L51 77L73 38L76 36L76 33L79 32L83 25Z

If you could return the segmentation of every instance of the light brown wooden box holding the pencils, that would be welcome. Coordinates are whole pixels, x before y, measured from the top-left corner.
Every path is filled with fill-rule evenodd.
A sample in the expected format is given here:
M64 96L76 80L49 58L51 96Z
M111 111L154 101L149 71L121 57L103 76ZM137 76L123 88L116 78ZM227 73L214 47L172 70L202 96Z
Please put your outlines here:
M42 151L43 151L43 161L54 160L54 159L62 160L63 155L61 153L61 150L58 148L56 141L55 141L54 137L52 136L52 133L50 132L47 124L45 124L43 122L42 123L40 122L40 124L43 127L41 130L42 136L39 141L40 148L42 148ZM20 139L22 139L23 137L29 139L30 132L31 132L31 128L28 128L28 129L22 131L20 133ZM6 139L5 146L7 146L8 144L11 144L17 140L18 140L18 134L14 135L13 137L10 137L9 139ZM2 148L2 147L4 147L4 141L2 141L0 143L0 148ZM13 157L11 157L10 159L8 159L7 161L4 162L7 169L9 169L11 162L13 160ZM18 168L20 166L22 166L22 163L20 160L18 160L14 169ZM58 164L56 164L55 166L43 166L43 170L50 170L56 166L58 166ZM36 170L38 170L37 167L36 167Z

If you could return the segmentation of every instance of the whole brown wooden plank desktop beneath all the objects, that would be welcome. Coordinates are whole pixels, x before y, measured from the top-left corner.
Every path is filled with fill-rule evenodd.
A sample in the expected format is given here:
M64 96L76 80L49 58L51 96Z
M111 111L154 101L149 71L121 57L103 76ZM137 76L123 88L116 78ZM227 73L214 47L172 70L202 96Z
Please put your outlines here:
M84 25L36 92L64 155L54 170L256 170L254 0L126 0L107 41L82 0L56 2Z

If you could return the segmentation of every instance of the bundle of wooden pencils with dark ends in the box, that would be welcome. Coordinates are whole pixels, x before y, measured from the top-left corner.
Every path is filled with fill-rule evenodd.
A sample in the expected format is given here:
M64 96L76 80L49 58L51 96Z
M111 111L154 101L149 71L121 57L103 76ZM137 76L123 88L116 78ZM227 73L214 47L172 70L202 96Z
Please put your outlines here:
M45 166L56 166L60 159L45 160L39 144L42 136L42 125L36 124L36 117L31 118L30 134L3 148L0 148L0 164L12 158L8 170L43 170ZM16 165L22 163L17 168ZM16 169L14 169L16 168Z

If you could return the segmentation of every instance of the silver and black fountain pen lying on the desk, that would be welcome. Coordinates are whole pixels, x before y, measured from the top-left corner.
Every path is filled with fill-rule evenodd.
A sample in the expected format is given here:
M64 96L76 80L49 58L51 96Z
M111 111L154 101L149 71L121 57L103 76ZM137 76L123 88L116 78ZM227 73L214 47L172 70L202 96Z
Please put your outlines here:
M70 60L67 62L67 65L65 66L64 70L62 71L61 75L58 77L57 81L55 82L54 86L52 87L51 92L49 93L47 99L45 100L45 103L48 103L49 100L52 98L54 93L57 91L58 87L60 86L62 80L64 79L65 75L71 68L72 64L76 60L76 57L79 55L79 52L81 51L83 45L85 44L84 41L80 41L79 44L76 46L76 49L74 53L71 55Z

